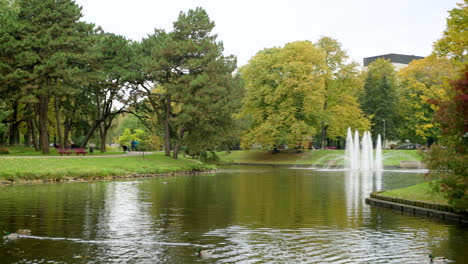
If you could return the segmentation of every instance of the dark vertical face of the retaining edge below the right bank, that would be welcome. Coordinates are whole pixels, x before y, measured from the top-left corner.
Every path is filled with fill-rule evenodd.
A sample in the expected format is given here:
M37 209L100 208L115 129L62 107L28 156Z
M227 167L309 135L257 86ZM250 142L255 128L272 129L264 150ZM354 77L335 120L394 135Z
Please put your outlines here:
M380 200L376 198L366 198L365 201L366 201L366 204L369 204L371 206L380 206L384 208L390 208L395 211L411 213L413 215L420 215L420 216L425 216L425 217L430 217L430 218L431 217L439 218L445 221L458 222L461 224L468 223L468 216L466 215L433 210L433 209L428 209L428 208L423 208L423 207L418 207L418 206L394 203L394 202L389 202L389 201Z

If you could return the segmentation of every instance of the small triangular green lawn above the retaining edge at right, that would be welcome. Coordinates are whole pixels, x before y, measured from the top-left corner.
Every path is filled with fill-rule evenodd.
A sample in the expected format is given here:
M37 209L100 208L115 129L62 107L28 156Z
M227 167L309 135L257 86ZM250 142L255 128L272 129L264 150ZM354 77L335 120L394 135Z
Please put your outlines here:
M447 200L440 194L434 194L429 182L413 185L406 188L388 190L379 195L400 198L412 201L422 201L429 203L448 204Z

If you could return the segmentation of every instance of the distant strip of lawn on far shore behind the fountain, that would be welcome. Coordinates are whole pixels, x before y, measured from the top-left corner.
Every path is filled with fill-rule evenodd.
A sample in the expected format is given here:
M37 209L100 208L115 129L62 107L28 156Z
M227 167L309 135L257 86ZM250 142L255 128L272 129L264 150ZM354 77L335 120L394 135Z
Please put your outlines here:
M254 163L254 164L317 164L343 165L344 150L314 150L296 153L295 151L280 151L272 154L263 150L239 150L219 152L218 156L224 163ZM399 166L400 161L421 161L418 150L384 150L384 166Z

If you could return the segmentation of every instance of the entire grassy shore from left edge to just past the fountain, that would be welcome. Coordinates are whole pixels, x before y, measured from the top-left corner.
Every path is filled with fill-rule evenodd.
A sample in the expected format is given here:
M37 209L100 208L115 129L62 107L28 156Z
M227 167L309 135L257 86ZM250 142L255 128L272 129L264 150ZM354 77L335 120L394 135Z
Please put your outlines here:
M108 153L102 153L106 155ZM122 152L111 152L122 154ZM295 150L280 151L272 154L266 150L241 150L218 152L219 164L234 163L269 165L269 164L302 164L302 165L342 165L340 156L344 150ZM57 154L58 155L58 154ZM56 153L45 155L43 158L37 152L24 149L12 149L10 154L0 155L0 183L30 183L35 182L63 182L79 180L99 180L113 178L148 177L148 175L162 175L174 173L197 173L216 170L215 165L202 163L198 160L180 157L175 160L164 156L162 152L128 157L99 158L69 158L57 157ZM21 158L2 158L21 156ZM31 156L31 158L27 158ZM50 158L50 156L56 156ZM74 156L74 155L71 155ZM89 154L87 155L89 157ZM384 151L385 166L398 166L401 160L420 161L417 150L388 150Z

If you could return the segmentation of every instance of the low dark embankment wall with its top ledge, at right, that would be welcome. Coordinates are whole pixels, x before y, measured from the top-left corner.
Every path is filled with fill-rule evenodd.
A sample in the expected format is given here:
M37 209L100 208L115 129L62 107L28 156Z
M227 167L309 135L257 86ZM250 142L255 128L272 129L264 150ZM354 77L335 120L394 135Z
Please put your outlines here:
M446 204L435 204L421 201L411 201L395 197L380 195L380 192L371 193L366 198L366 204L390 208L413 215L440 218L442 220L458 223L468 223L468 212L455 212L453 207Z

